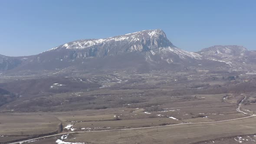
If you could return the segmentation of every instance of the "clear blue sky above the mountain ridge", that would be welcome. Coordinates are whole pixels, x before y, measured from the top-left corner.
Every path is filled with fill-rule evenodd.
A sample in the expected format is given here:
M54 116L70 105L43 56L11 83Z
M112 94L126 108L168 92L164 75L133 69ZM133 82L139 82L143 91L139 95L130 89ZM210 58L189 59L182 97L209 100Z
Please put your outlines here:
M163 29L177 47L256 50L256 0L0 0L0 54L28 56L77 39Z

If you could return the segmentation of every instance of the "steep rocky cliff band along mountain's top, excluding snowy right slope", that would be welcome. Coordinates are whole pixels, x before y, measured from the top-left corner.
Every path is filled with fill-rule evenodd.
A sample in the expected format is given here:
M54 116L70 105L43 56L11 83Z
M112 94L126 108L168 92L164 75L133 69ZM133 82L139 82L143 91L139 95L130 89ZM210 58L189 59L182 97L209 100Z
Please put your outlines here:
M161 29L144 30L107 39L83 39L57 46L49 52L66 54L61 59L115 56L125 52L148 52L160 47L175 47ZM43 54L44 54L43 53Z

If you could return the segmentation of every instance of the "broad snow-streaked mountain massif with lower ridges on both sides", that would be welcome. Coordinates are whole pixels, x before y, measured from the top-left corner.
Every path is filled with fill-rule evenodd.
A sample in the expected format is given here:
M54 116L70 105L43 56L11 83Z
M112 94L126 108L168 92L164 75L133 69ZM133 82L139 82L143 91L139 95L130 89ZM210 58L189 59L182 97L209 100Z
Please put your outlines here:
M216 66L228 65L222 62L222 59L234 55L242 56L243 53L247 53L243 47L234 50L232 47L221 48L221 46L203 49L200 52L187 52L174 46L163 30L154 29L105 39L77 40L35 56L8 57L4 65L0 65L0 69L9 70L10 73L29 72L30 74L40 73L42 70L70 73L118 69L141 72L198 67L212 69Z

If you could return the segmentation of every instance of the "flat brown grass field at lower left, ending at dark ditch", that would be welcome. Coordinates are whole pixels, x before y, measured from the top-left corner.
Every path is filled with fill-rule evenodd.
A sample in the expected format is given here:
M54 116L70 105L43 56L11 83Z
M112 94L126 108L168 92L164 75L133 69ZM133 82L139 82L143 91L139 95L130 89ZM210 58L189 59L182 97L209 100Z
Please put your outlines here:
M0 143L58 131L61 122L53 115L0 114Z

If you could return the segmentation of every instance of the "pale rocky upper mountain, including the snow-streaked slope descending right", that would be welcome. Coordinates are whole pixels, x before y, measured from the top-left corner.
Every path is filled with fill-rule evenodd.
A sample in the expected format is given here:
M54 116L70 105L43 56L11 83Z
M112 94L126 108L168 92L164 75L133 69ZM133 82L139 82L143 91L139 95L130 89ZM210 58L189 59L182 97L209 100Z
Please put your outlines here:
M136 52L141 53L141 57L149 63L159 63L159 61L172 63L185 61L186 59L201 58L198 53L178 49L167 39L163 30L154 29L107 39L84 39L66 43L39 54L35 60L44 62L45 60L51 61L53 59L104 58L106 56L121 56Z

